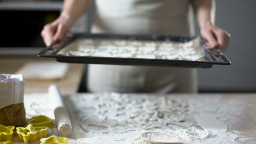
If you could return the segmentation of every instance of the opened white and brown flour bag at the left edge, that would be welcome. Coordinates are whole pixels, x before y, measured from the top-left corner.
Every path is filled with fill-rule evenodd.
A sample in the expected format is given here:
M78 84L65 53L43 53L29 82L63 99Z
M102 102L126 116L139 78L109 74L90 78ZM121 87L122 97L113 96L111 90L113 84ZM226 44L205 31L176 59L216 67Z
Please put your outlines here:
M0 124L25 124L24 85L22 75L0 74Z

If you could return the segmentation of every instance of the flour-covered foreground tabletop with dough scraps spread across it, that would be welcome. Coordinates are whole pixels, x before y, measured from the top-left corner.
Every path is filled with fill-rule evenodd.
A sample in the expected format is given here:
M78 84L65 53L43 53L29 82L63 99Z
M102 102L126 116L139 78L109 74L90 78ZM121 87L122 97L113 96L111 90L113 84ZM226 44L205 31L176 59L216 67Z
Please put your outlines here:
M69 144L149 144L139 138L141 134L160 131L194 144L233 144L239 131L235 125L246 118L244 108L255 107L255 104L242 97L231 98L118 93L65 96L73 126L68 141ZM25 95L27 118L41 114L54 118L51 107L54 101L50 100L48 94ZM203 121L204 114L211 115L213 120L207 119L211 125L198 123ZM56 126L49 130L50 135L60 136ZM253 140L240 138L236 141L242 144ZM14 141L22 144L17 136Z

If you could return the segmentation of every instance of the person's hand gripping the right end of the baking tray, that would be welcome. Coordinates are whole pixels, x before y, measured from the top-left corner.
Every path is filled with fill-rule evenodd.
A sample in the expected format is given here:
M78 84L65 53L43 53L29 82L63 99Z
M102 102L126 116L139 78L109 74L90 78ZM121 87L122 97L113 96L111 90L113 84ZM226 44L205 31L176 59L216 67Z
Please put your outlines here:
M219 48L222 52L229 47L230 34L211 23L201 26L201 35L207 40L206 45L209 47Z

